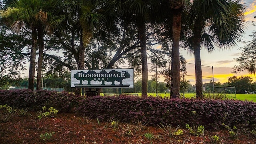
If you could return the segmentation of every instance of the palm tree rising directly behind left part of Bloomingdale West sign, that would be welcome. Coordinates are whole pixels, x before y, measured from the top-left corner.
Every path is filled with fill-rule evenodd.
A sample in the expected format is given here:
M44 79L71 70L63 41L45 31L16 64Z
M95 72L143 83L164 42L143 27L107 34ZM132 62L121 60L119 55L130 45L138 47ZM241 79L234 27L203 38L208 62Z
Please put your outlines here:
M78 70L84 69L85 50L93 36L94 28L105 20L104 15L99 13L100 2L100 0L56 0L54 4L55 16L52 18L52 24L57 29L56 33L61 34L71 27L80 38L78 53L74 53ZM76 93L80 94L81 90L76 90Z

